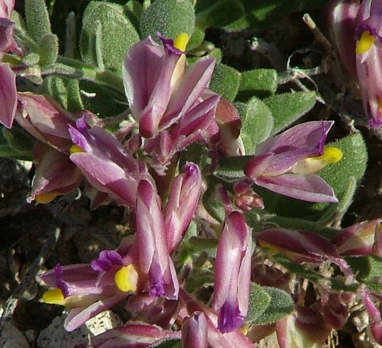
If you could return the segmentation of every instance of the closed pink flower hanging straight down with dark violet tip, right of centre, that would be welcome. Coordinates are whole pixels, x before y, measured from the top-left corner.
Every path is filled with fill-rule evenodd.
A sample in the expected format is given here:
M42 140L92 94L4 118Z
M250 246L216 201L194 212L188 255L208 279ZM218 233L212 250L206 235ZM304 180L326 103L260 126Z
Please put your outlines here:
M219 313L217 328L237 329L248 312L251 279L252 234L243 216L233 211L226 217L217 246L212 309Z

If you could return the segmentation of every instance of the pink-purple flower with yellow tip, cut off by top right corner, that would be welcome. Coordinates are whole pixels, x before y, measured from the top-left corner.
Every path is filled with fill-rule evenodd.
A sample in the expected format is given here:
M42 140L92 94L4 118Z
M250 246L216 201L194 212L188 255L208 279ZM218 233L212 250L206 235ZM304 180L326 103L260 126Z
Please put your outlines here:
M340 0L331 6L334 41L352 75L357 70L370 127L382 126L382 2ZM356 68L354 65L356 62Z

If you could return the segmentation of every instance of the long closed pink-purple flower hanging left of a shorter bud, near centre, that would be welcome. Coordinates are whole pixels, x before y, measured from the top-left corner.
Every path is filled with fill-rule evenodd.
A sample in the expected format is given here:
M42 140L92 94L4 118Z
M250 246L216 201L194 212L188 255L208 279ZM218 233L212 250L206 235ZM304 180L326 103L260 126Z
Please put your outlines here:
M135 220L140 265L150 280L150 296L176 300L179 284L167 246L161 203L154 186L147 180L138 184Z

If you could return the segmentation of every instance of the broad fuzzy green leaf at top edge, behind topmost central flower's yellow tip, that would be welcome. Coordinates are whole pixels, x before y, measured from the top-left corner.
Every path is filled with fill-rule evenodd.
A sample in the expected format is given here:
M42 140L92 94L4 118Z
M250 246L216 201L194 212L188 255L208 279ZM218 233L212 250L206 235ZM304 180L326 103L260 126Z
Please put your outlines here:
M155 1L143 12L140 21L141 38L149 35L159 42L156 33L175 39L180 33L192 36L195 25L194 6L189 0Z

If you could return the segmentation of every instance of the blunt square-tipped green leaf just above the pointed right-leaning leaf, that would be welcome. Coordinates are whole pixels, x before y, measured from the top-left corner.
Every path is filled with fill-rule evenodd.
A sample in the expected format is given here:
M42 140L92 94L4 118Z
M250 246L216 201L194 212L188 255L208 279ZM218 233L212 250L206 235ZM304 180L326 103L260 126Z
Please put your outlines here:
M275 94L276 90L277 71L275 69L242 71L236 100L247 101L252 96L264 98Z

